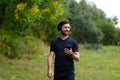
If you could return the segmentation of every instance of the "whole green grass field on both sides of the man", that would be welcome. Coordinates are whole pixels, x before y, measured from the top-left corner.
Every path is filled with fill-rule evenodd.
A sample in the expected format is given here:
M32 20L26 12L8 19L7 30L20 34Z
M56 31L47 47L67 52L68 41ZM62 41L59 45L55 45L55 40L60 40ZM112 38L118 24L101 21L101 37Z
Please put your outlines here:
M51 80L47 78L47 55L25 55L8 59L0 55L0 80ZM105 46L99 50L80 48L81 59L75 62L76 80L120 80L120 47Z

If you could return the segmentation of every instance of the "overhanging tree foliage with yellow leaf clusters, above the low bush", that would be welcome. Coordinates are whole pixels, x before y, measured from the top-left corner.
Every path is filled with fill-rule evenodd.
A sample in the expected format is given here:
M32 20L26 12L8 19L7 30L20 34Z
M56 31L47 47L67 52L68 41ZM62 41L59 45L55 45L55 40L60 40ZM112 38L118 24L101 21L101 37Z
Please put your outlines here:
M42 33L46 35L48 34L47 37L51 35L51 33L56 34L57 32L53 32L55 30L50 30L55 28L56 24L65 17L65 10L62 1L11 0L10 3L12 5L6 2L6 0L1 2L1 5L4 5L1 6L1 9L4 11L0 13L0 18L2 18L3 23L2 29L12 31L18 36L25 36L22 33L26 33L29 29L31 29L31 31L35 30L36 28L34 29L34 27L36 27L36 24ZM45 40L47 41L46 38Z

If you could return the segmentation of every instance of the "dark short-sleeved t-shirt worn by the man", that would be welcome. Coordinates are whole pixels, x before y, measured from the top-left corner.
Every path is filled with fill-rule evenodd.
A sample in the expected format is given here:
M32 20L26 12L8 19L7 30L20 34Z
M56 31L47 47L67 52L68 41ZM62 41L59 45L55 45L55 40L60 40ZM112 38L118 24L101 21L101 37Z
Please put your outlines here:
M72 48L73 52L78 52L77 42L71 37L65 40L58 37L51 41L50 51L55 53L55 70L74 70L73 59L66 55L64 48Z

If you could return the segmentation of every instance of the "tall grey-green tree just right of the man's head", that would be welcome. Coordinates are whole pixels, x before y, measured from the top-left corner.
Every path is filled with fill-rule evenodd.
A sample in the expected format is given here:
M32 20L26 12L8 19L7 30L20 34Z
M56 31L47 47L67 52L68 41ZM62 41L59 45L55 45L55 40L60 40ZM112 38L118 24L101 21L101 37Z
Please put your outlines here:
M79 4L71 2L69 5L69 11L71 14L68 18L73 26L72 36L79 43L100 43L102 32L95 25L96 18L94 15L97 14L96 10L95 6L88 5L85 0L82 0Z

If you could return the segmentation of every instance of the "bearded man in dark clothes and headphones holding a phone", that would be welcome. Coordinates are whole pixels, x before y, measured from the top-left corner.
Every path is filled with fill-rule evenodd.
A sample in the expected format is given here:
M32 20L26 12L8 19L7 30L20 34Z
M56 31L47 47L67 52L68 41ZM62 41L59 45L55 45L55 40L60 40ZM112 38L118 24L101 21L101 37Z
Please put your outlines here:
M60 37L51 41L48 56L48 77L52 78L52 60L55 55L54 80L75 80L74 61L79 61L77 42L69 37L70 23L68 20L61 21L57 29L61 32Z

